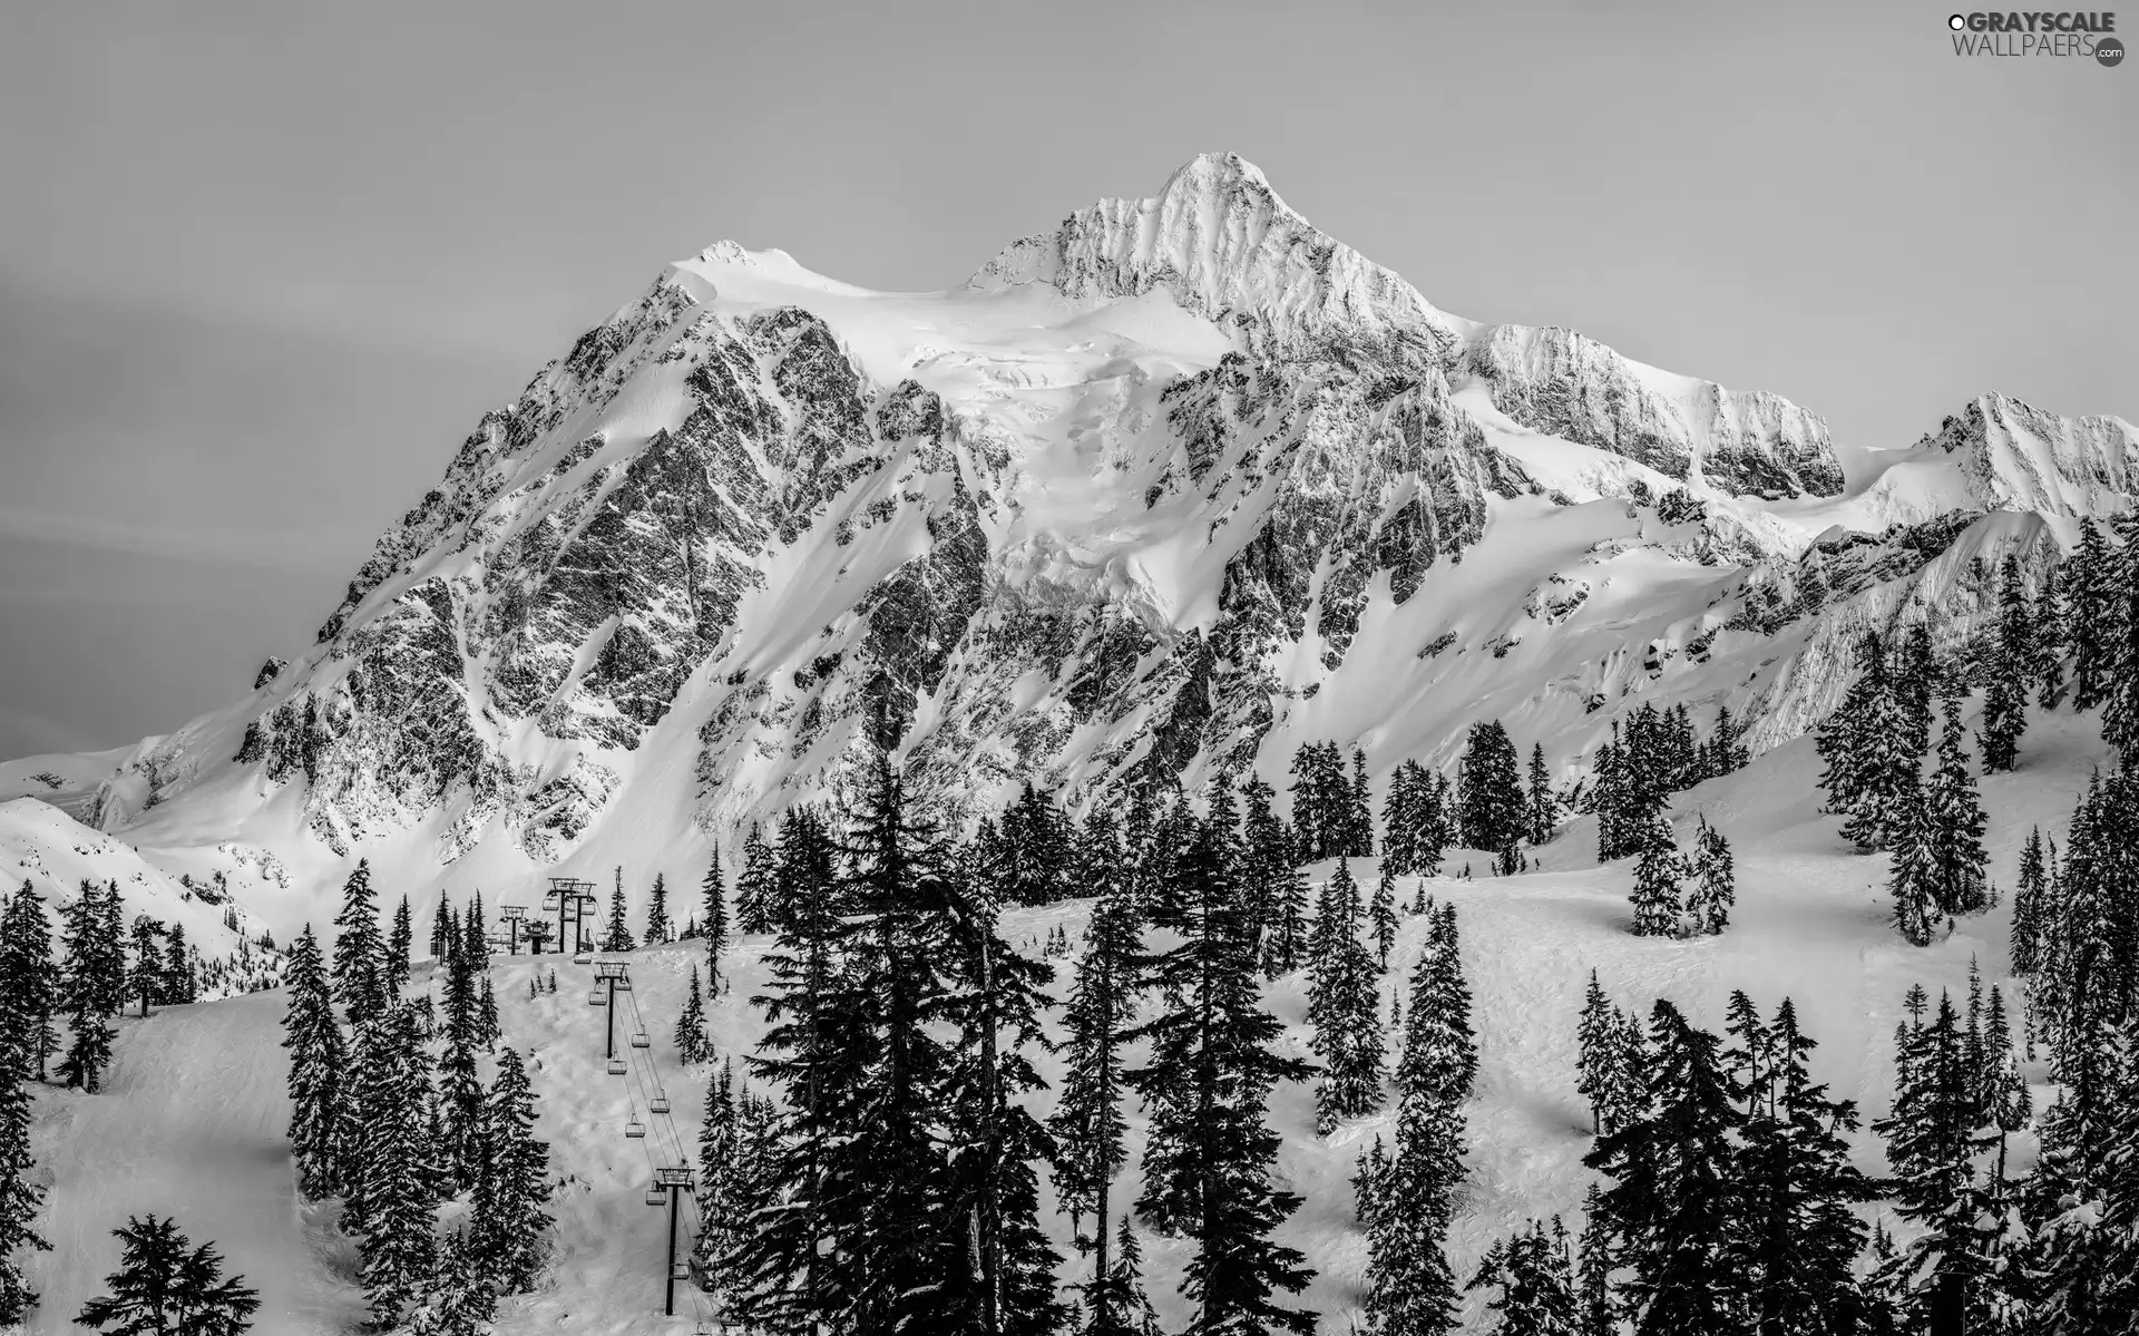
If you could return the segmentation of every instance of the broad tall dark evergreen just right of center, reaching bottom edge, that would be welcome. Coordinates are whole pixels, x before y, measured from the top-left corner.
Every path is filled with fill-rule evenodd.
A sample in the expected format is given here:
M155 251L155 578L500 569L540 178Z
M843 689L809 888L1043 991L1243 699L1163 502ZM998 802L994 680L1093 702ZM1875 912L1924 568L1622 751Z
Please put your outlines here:
M1181 1285L1189 1332L1311 1332L1311 1312L1277 1302L1311 1272L1271 1240L1301 1199L1271 1182L1281 1137L1264 1118L1273 1086L1309 1068L1275 1051L1283 1026L1258 998L1226 839L1198 822L1181 850L1181 940L1151 961L1159 993L1179 1006L1132 1030L1151 1045L1147 1066L1123 1077L1153 1115L1138 1214L1194 1242Z

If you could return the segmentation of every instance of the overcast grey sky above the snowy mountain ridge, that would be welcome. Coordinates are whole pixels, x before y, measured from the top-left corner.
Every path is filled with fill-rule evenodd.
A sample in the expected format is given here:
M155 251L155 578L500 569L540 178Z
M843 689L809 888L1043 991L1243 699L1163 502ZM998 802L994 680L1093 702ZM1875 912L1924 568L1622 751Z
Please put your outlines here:
M2139 418L2139 60L1964 60L1946 13L0 4L0 756L310 644L661 263L948 287L1200 150L1446 310L1846 443L1985 390Z

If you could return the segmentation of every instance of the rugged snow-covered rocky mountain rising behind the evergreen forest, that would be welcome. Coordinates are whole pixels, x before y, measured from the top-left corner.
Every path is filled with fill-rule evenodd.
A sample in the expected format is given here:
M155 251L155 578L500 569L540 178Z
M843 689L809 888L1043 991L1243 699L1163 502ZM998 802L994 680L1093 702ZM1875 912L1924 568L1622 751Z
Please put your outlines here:
M1985 396L1908 450L1570 330L1484 325L1238 156L879 293L721 242L488 413L233 707L0 766L203 876L684 871L871 728L958 816L1301 741L1566 777L1643 700L1784 743L1869 623L1970 638L2133 495L2139 428ZM0 807L0 822L19 820ZM0 826L4 829L4 826Z

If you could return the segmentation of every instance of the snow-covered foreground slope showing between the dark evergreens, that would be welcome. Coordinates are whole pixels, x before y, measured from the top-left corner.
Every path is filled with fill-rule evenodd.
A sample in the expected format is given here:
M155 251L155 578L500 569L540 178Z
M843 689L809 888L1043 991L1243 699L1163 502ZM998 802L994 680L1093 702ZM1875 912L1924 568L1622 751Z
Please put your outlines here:
M2038 719L2021 764L1985 779L1991 871L2011 884L2019 844L2041 822L2062 831L2073 794L2105 760L2094 717L2071 713ZM1991 983L2004 983L2009 910L1961 921L1929 946L1910 948L1887 923L1882 856L1848 852L1833 818L1816 814L1816 773L1807 741L1756 758L1752 766L1677 794L1679 835L1701 814L1730 833L1739 859L1739 906L1720 938L1668 940L1628 933L1626 863L1598 867L1589 818L1574 820L1542 850L1540 869L1514 878L1431 878L1425 891L1459 908L1463 959L1476 991L1480 1081L1469 1107L1472 1150L1465 1203L1452 1229L1452 1261L1467 1276L1484 1246L1529 1216L1579 1210L1587 1171L1589 1122L1574 1094L1574 1017L1589 970L1621 1004L1647 1008L1671 998L1705 1023L1722 1023L1730 989L1750 991L1763 1008L1795 998L1807 1032L1820 1041L1818 1079L1842 1098L1863 1100L1880 1115L1891 1088L1891 1032L1910 983L1964 987L1972 959ZM1450 874L1465 854L1452 852ZM1318 865L1322 878L1333 865ZM1354 863L1367 884L1375 867ZM1412 880L1401 882L1410 901ZM1037 955L1052 927L1082 929L1084 904L1018 910L1007 936ZM1388 987L1422 948L1425 923L1407 918ZM766 985L766 938L744 940L729 957L732 991L712 1008L723 1053L755 1043L759 1015L747 1000ZM702 961L691 942L622 955L633 976L629 1017L644 1019L652 1049L633 1051L631 1075L603 1071L605 1015L586 1006L586 966L569 957L496 959L496 996L505 1041L530 1058L541 1096L541 1135L552 1169L565 1182L550 1280L533 1295L509 1300L501 1332L569 1330L586 1336L625 1332L689 1332L684 1302L674 1323L659 1317L665 1216L648 1210L644 1188L655 1163L695 1154L708 1068L680 1068L670 1043L682 1006L687 970ZM558 974L556 993L528 998L528 978ZM1057 991L1067 987L1067 961ZM436 989L424 970L417 989ZM1307 1056L1305 981L1281 978L1271 1004L1286 1021L1283 1047ZM103 1094L39 1090L36 1156L51 1182L49 1255L30 1259L45 1302L30 1332L64 1332L66 1317L94 1293L113 1265L109 1229L128 1212L171 1212L214 1238L231 1267L267 1295L261 1330L327 1334L351 1330L361 1315L353 1252L332 1229L332 1205L295 1197L284 1141L289 1105L282 1090L280 993L169 1008L148 1021L120 1019L118 1060ZM627 1030L622 1030L627 1032ZM620 1034L622 1034L620 1032ZM629 1051L629 1049L627 1049ZM1055 1060L1044 1062L1055 1079ZM488 1079L488 1071L483 1073ZM2036 1073L2041 1077L2041 1073ZM631 1115L646 1118L646 1096L659 1083L674 1100L672 1120L650 1118L652 1135L629 1141ZM1042 1096L1048 1107L1052 1094ZM1305 1086L1281 1088L1273 1124L1286 1135L1279 1173L1307 1197L1279 1235L1307 1252L1318 1278L1305 1300L1322 1330L1345 1330L1360 1302L1363 1235L1352 1214L1350 1175L1375 1135L1388 1135L1388 1109L1343 1124L1330 1137L1313 1130ZM1132 1169L1144 1124L1132 1103ZM1878 1169L1869 1137L1859 1160ZM2026 1169L2032 1145L2015 1145ZM1061 1220L1052 1214L1059 1231ZM1063 1240L1057 1238L1057 1244ZM1170 1321L1183 1312L1174 1285L1187 1244L1151 1240L1151 1291ZM1474 1317L1482 1295L1472 1295Z

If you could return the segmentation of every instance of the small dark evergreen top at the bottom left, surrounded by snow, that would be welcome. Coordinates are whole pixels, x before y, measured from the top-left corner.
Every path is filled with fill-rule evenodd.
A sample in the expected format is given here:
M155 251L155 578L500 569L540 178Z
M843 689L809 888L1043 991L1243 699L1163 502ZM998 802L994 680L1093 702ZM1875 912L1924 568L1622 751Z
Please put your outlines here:
M120 1270L105 1276L109 1293L81 1306L75 1323L122 1336L171 1332L173 1336L237 1336L252 1330L259 1291L244 1276L222 1274L222 1255L180 1233L175 1220L126 1216L118 1235Z

